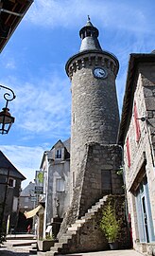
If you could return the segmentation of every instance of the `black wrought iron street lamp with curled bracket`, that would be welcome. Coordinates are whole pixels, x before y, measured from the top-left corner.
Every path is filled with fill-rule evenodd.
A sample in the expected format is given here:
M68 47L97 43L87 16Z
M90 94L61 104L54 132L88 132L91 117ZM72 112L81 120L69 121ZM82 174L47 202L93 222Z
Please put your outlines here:
M6 92L4 94L4 99L7 101L6 106L2 108L2 111L0 112L0 134L4 135L9 133L9 129L12 123L14 122L14 118L11 117L9 113L8 104L9 104L9 101L14 100L16 96L14 92L11 89L9 89L9 87L6 87L0 84L0 88L9 90L9 92Z

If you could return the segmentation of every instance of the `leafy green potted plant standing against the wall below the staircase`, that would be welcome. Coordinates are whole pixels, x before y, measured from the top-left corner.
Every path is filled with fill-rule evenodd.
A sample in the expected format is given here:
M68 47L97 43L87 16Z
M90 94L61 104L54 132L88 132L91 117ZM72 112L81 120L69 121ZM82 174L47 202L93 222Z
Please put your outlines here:
M117 236L120 230L120 220L116 219L111 202L103 210L100 229L104 232L111 249L116 249L118 247Z

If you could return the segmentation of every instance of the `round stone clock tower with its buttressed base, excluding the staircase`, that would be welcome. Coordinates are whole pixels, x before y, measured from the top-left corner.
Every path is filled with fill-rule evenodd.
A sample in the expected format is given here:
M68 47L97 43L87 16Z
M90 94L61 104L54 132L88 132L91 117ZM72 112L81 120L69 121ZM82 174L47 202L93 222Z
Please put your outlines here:
M72 83L71 206L59 238L104 195L123 192L122 178L117 174L122 150L116 144L119 112L115 79L119 63L112 53L102 50L98 29L90 19L79 35L80 50L66 64Z

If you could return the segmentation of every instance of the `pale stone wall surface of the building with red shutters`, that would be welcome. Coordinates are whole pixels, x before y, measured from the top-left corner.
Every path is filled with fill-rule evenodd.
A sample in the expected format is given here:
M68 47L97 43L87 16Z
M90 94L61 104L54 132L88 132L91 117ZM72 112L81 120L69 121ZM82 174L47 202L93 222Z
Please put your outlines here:
M155 66L154 64L139 64L135 77L136 89L134 93L132 116L129 122L129 154L130 166L128 164L127 137L124 148L124 162L126 172L126 187L131 216L133 247L139 249L138 214L136 210L136 190L146 172L150 208L152 212L153 225L155 227L155 175L154 175L154 142L155 142ZM136 141L136 127L134 120L134 101L137 106L137 114L140 126L140 139ZM142 119L144 118L144 119Z

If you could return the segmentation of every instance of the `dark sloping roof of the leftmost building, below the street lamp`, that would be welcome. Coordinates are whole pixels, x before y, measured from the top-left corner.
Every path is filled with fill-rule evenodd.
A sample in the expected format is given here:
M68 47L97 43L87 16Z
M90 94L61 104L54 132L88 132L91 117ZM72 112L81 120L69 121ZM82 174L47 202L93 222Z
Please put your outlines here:
M1 169L9 169L9 176L17 177L21 180L25 180L26 177L21 174L14 165L9 161L6 155L0 151L0 174L3 174Z

